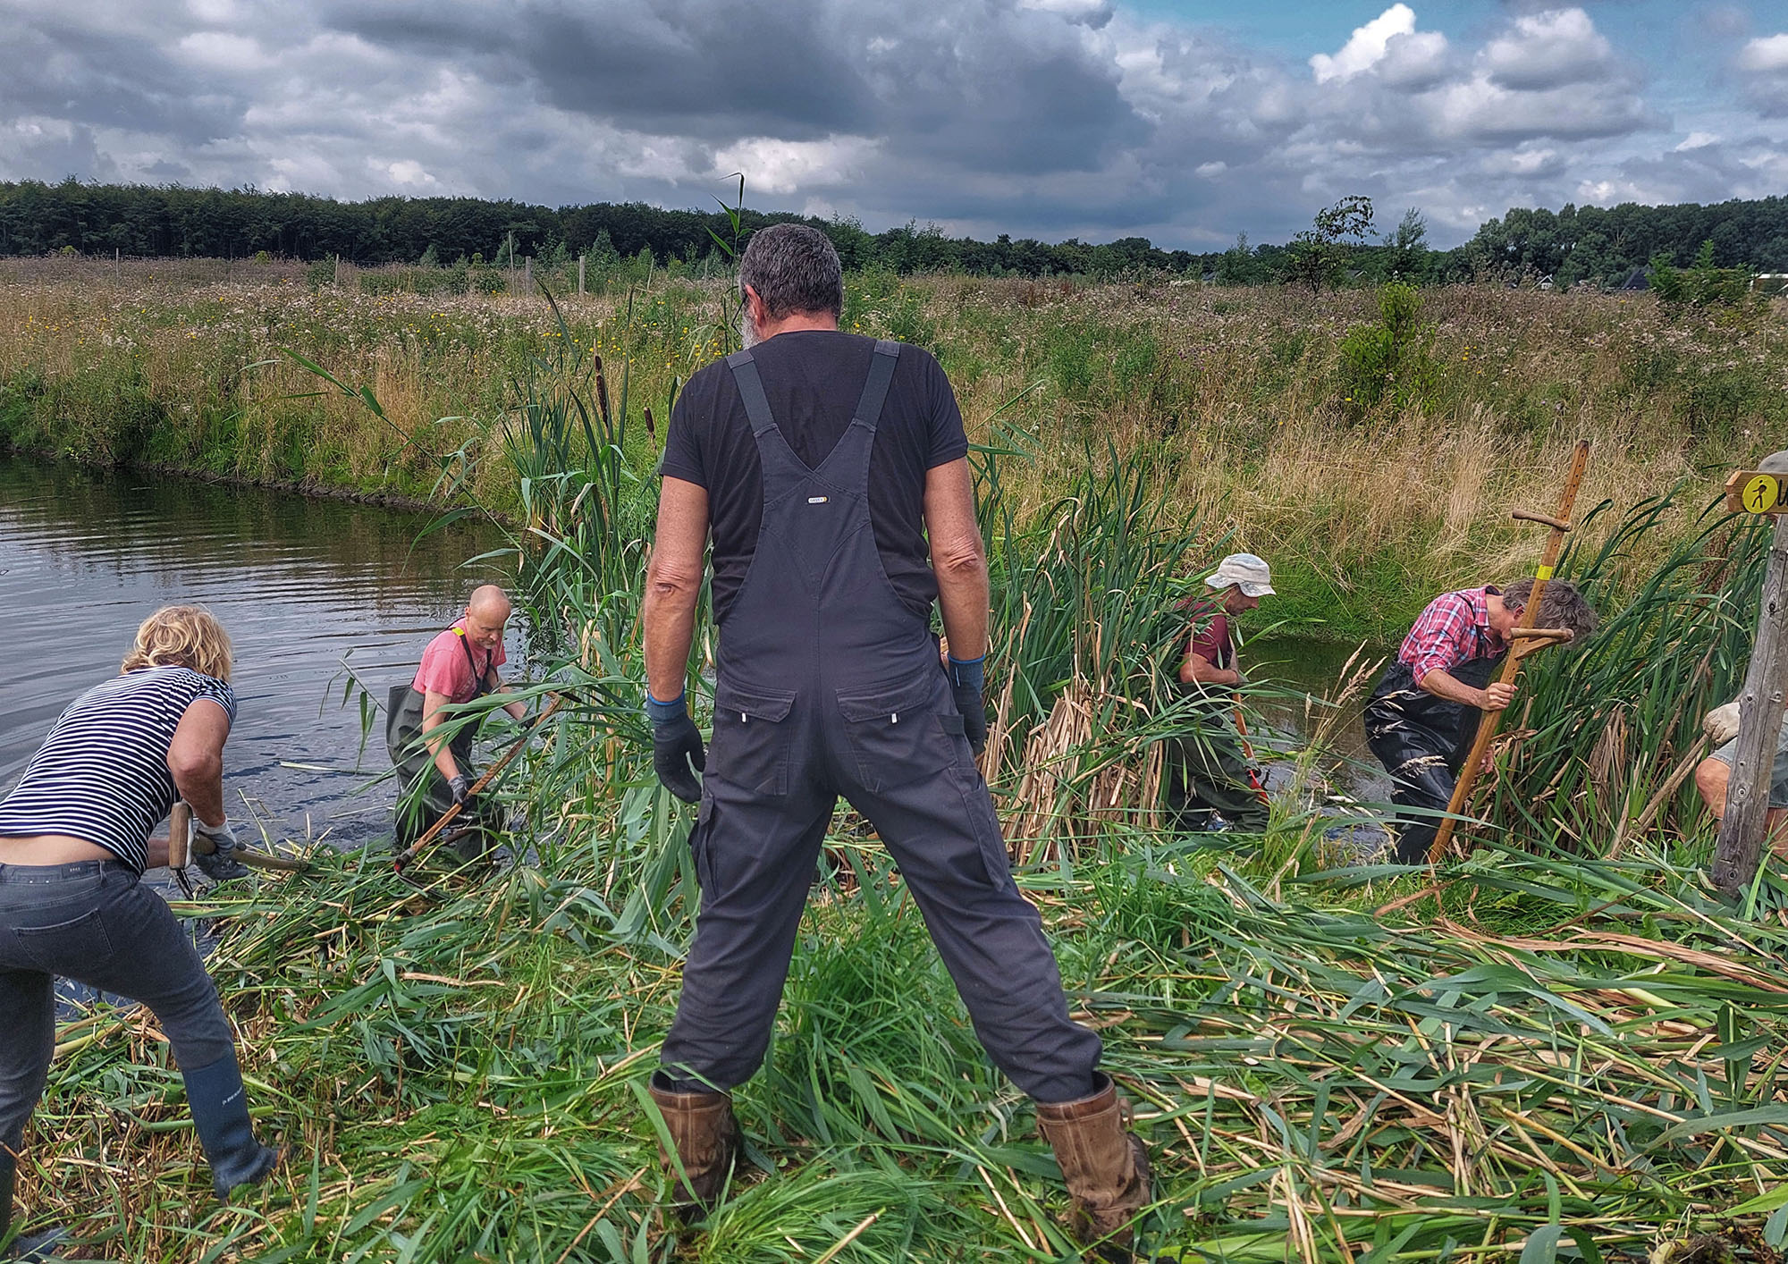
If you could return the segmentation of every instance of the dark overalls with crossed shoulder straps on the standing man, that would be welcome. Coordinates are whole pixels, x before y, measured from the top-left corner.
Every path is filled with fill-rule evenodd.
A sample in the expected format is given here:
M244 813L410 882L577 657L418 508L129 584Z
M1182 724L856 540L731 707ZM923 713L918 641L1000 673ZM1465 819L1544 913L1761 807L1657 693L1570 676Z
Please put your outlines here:
M1084 1098L1100 1039L1067 1017L937 640L876 551L869 463L898 354L899 343L876 343L856 415L819 468L783 440L751 352L728 359L763 463L763 522L721 624L690 835L701 910L663 1064L713 1089L762 1064L842 794L899 865L999 1069L1039 1101Z

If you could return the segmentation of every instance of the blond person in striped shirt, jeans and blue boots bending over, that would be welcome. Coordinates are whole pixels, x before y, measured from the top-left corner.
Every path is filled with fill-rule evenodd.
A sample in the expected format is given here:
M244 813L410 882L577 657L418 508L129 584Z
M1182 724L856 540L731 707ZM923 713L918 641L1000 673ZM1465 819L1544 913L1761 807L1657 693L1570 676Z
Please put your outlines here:
M161 896L138 883L168 862L168 840L148 835L177 799L216 840L222 864L236 864L224 817L224 740L236 719L229 672L229 636L209 611L157 610L138 628L123 672L63 712L0 801L0 1250L25 1123L55 1044L57 974L154 1010L218 1198L265 1180L279 1159L254 1137L204 962ZM13 1250L29 1259L54 1230L34 1237Z

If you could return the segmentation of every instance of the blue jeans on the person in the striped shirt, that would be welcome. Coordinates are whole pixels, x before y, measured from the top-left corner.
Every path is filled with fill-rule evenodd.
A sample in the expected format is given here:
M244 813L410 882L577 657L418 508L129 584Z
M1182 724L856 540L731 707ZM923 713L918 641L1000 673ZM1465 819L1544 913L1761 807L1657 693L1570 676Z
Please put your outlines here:
M14 1153L50 1073L57 974L147 1005L182 1069L234 1055L198 949L129 865L0 865L0 1144Z

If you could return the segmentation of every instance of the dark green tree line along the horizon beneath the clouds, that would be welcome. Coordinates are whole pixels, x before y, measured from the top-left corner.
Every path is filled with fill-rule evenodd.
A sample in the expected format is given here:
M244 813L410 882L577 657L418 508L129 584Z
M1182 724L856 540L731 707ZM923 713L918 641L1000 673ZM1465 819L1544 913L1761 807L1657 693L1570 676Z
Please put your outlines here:
M1788 272L1788 198L1718 206L1514 207L1486 222L1464 245L1430 250L1427 227L1409 211L1387 232L1373 231L1371 202L1343 198L1312 229L1284 245L1228 250L1162 250L1148 238L1107 243L957 238L908 222L869 232L856 220L738 209L731 216L644 202L547 207L467 197L381 197L338 202L308 193L191 190L173 184L88 184L68 179L0 182L0 256L55 252L132 257L198 256L390 263L563 261L594 256L697 263L721 241L765 223L803 222L826 232L846 268L966 272L974 275L1094 275L1171 272L1227 284L1300 281L1314 286L1405 279L1446 282L1550 275L1557 284L1620 284L1656 257L1688 265L1706 241L1720 266Z

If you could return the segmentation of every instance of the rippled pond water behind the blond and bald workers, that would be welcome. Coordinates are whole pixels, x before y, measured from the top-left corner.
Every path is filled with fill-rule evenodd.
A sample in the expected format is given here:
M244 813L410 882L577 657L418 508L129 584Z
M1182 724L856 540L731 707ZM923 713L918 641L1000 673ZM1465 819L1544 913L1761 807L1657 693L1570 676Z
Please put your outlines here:
M361 751L359 704L343 706L343 687L352 672L383 701L492 577L467 569L493 547L488 533L424 535L427 524L377 506L0 458L0 794L57 713L118 674L145 615L200 603L236 651L224 788L238 831L252 817L275 840L388 837L392 783L368 788L390 767L383 726Z

